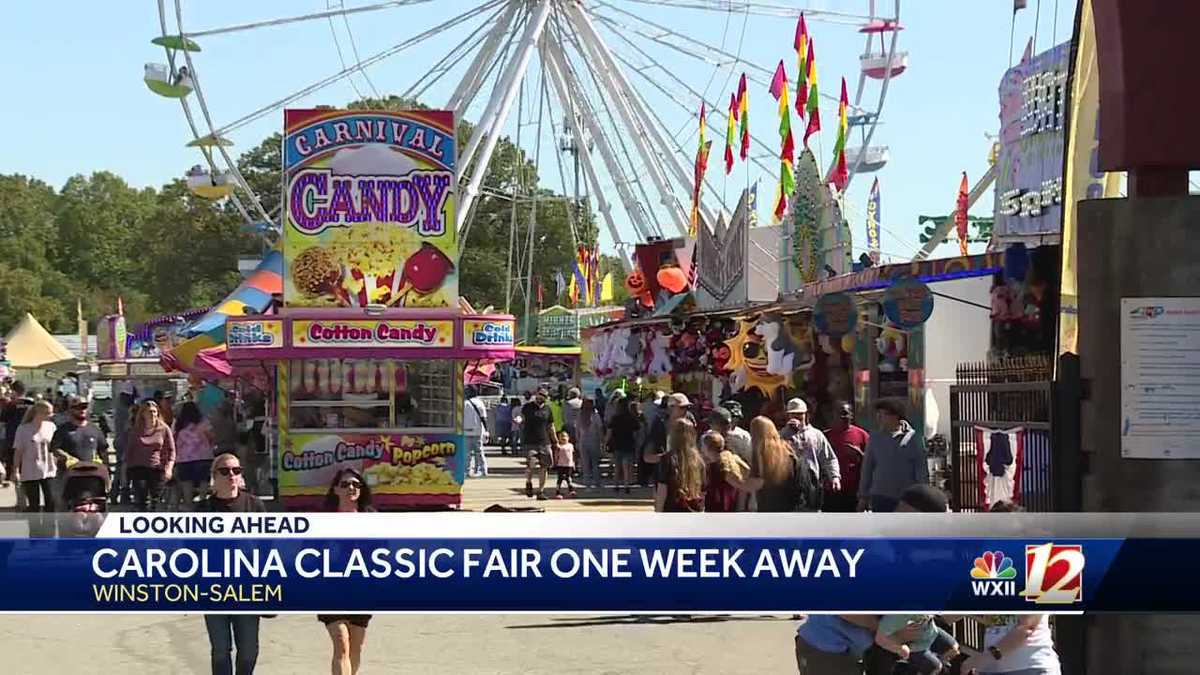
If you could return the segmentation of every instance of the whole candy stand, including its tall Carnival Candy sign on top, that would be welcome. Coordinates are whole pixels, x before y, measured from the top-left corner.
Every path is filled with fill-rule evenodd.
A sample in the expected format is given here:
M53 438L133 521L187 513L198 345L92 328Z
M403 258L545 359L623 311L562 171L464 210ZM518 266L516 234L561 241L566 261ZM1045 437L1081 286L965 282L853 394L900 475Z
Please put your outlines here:
M283 306L230 317L238 366L276 365L280 497L341 467L380 508L462 501L463 369L512 358L510 316L458 305L454 115L284 112Z

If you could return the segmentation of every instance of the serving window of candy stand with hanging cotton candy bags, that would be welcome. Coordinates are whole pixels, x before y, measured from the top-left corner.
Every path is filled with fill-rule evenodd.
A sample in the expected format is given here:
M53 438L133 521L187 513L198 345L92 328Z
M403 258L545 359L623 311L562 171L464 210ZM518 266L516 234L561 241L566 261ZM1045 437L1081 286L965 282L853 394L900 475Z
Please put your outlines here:
M452 429L455 362L290 362L292 430Z

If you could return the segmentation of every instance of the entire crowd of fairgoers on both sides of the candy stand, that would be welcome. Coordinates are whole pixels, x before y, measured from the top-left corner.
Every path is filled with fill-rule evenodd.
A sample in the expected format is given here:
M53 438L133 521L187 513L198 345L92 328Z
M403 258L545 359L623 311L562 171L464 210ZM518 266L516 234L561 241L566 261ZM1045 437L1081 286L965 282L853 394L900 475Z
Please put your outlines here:
M118 435L120 474L139 510L174 503L200 512L263 512L247 490L234 436L222 432L230 418L226 402L174 405L156 393L131 401ZM208 407L208 411L205 411ZM697 416L683 393L656 392L636 401L624 392L578 389L551 400L546 388L509 399L488 429L478 399L464 402L468 476L487 476L484 447L494 441L504 454L526 459L528 497L570 498L578 489L629 494L653 488L659 512L947 512L944 492L929 484L923 440L892 401L875 407L876 431L856 424L853 406L841 402L828 429L817 429L803 399L784 406L781 419L744 419L737 401ZM61 478L74 465L103 462L109 429L91 422L78 396L29 396L19 382L0 404L2 468L18 485L22 508L49 513L65 502ZM101 418L102 419L102 418ZM216 422L215 422L216 420ZM107 425L106 425L107 426ZM245 454L245 453L242 453ZM612 471L601 471L604 458ZM1007 503L991 510L1015 510ZM374 510L362 476L343 467L334 477L324 509ZM214 674L252 673L263 619L206 615ZM319 615L331 644L331 673L359 671L370 615ZM814 615L796 634L802 675L892 675L894 673L1057 675L1061 671L1045 616L994 616L984 623L985 650L960 653L946 631L956 617L931 615ZM950 665L952 664L952 665Z

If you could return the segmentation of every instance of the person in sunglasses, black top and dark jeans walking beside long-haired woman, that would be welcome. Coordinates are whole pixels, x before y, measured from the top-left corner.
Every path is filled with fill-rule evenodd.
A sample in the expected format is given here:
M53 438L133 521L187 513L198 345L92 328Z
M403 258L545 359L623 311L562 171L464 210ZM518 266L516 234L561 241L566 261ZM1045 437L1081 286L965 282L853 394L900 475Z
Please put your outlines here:
M263 501L246 491L241 479L241 460L223 453L212 460L212 494L198 510L212 513L262 513ZM204 627L209 631L212 675L233 675L233 651L238 647L238 675L252 674L258 662L258 622L254 614L206 614Z

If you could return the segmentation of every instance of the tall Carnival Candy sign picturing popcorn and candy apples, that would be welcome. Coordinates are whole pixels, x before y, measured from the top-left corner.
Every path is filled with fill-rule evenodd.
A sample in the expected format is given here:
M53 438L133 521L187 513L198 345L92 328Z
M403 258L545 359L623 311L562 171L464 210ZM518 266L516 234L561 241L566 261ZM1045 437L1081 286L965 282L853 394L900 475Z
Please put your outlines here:
M457 306L449 110L284 110L283 300Z

